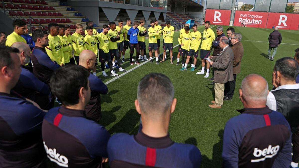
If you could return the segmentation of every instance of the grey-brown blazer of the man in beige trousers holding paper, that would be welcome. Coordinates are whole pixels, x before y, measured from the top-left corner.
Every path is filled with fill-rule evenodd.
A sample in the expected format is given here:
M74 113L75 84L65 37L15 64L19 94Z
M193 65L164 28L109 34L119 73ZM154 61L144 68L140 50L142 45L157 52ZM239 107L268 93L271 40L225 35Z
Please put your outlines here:
M226 83L234 80L233 60L234 52L229 46L219 56L213 56L214 82Z

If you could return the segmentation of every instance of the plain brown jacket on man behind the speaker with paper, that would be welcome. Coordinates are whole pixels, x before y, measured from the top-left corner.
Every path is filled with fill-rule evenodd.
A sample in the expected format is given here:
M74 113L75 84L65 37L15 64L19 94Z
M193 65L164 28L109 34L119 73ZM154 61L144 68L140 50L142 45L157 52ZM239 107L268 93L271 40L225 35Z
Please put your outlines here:
M237 42L233 46L231 46L231 49L234 51L234 63L233 63L233 71L234 74L239 74L241 71L241 60L243 57L243 44L241 41Z

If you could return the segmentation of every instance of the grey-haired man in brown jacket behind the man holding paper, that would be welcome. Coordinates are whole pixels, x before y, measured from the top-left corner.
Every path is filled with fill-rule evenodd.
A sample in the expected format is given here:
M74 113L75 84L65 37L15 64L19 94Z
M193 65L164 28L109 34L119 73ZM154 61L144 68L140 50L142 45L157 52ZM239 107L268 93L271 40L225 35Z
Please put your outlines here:
M231 49L234 51L234 63L233 63L234 80L225 83L223 100L231 100L235 93L236 77L237 74L239 74L241 71L241 60L244 52L241 39L242 39L242 35L240 33L231 34L231 43L233 44Z

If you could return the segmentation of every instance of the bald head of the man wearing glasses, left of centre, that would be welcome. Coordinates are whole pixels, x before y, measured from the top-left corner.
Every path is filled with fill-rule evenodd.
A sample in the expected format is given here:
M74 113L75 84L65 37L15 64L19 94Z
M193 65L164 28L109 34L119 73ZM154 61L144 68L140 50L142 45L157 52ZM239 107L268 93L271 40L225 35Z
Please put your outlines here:
M81 65L87 69L92 69L95 66L97 56L91 50L83 50L80 53L79 58L80 58L79 65Z

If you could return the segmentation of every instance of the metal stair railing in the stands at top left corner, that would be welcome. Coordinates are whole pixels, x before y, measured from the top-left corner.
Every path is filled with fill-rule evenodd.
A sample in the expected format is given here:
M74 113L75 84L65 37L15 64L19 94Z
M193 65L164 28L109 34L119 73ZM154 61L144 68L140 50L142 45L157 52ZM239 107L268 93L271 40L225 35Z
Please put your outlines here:
M28 23L28 25L29 25L29 30L30 30L31 32L33 31L31 21L36 22L36 24L40 25L43 29L49 31L49 30L48 30L47 28L45 28L42 24L40 24L39 22L37 22L36 20L34 20L30 15L28 15L27 13L25 13L25 11L23 11L21 8L15 6L15 4L14 4L12 1L10 1L10 0L7 0L7 1L8 1L10 4L14 5L14 7L16 7L19 11L23 12L23 14L24 14L25 16L29 17L29 23L27 22L27 20L26 20L26 22ZM1 9L1 8L0 8L0 9ZM20 15L17 13L17 11L15 11L15 10L11 9L10 7L8 7L8 6L4 3L4 0L2 0L2 10L4 11L4 14L7 13L6 15L8 15L8 16L12 16L13 19L23 19L22 16L20 16ZM9 12L15 12L15 14L16 14L17 16L16 16L16 15L13 16L13 15L11 15ZM25 19L24 19L24 20L25 20Z

